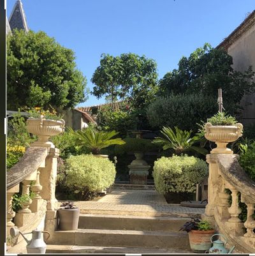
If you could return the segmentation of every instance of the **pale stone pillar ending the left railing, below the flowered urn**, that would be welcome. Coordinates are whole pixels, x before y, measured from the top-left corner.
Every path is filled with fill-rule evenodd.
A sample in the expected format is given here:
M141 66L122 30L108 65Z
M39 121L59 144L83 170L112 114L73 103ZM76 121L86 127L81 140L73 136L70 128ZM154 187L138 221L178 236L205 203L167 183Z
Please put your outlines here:
M40 168L40 184L43 187L41 197L47 200L47 210L57 210L57 199L55 199L55 183L57 179L57 157L59 149L49 148L49 154L45 160L45 167Z

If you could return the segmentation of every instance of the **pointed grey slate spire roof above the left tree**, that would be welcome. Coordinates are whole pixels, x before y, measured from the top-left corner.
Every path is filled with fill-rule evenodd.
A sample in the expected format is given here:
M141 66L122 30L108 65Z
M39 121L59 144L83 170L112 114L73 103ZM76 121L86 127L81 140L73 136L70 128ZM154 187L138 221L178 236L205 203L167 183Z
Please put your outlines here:
M9 24L11 30L23 29L25 33L29 31L27 26L27 19L25 18L25 12L20 0L17 0L9 18Z

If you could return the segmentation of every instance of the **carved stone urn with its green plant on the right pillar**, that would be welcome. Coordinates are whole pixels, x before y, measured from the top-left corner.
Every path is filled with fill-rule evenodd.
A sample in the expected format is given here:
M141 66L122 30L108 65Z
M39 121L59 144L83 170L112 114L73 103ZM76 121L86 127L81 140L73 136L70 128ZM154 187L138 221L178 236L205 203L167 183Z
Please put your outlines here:
M217 144L211 153L231 154L233 151L227 148L229 142L233 142L242 136L243 125L237 123L235 117L224 112L218 112L207 119L205 124L205 138Z

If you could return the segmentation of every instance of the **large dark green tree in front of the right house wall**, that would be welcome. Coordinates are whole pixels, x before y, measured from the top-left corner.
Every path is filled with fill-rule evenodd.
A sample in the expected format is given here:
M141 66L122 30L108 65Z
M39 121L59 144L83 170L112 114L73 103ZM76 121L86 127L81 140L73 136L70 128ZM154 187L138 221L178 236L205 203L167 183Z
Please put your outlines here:
M178 70L166 73L159 80L159 94L202 93L217 99L217 89L222 88L224 102L237 105L246 93L255 90L254 72L234 71L233 59L224 49L213 49L205 43L189 57L182 57Z

